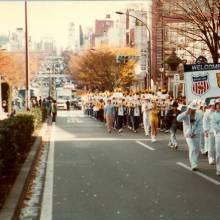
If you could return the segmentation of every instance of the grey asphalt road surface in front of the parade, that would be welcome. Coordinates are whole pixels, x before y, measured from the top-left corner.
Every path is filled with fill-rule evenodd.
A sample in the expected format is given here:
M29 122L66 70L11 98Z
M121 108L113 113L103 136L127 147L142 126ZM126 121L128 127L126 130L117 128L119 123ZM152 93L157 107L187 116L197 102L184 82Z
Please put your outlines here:
M169 135L151 143L142 130L108 134L80 111L59 112L52 128L41 220L218 220L220 178L201 156L188 170Z

